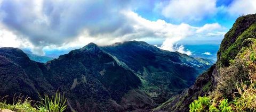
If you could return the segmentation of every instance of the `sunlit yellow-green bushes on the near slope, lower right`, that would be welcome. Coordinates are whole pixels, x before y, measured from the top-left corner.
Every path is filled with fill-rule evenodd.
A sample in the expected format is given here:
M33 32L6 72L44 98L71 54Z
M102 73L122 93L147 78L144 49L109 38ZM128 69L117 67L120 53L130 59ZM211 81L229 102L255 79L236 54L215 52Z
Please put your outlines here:
M199 97L190 111L256 111L256 39L245 39L229 66L220 67L220 82L208 97Z

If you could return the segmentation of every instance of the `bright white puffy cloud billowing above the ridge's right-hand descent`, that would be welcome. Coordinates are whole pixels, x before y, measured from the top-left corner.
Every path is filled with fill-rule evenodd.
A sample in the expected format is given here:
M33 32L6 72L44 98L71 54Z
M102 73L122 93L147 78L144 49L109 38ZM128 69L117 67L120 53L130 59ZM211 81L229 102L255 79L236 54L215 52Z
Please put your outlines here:
M169 36L166 37L161 48L170 51L179 51L180 53L191 55L191 51L185 50L183 46L174 46L175 43L190 36L194 36L194 38L223 36L225 32L218 32L218 30L223 29L225 28L221 27L221 25L218 23L205 24L202 27L193 27L189 24L182 23L175 26L173 29L170 28L171 32L169 32Z

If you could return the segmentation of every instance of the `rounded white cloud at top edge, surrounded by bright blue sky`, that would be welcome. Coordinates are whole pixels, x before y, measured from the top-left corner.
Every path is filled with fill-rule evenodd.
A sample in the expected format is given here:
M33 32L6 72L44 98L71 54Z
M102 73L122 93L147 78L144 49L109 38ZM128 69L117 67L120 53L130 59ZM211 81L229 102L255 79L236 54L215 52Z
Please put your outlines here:
M217 13L216 0L170 0L162 9L166 18L202 20Z

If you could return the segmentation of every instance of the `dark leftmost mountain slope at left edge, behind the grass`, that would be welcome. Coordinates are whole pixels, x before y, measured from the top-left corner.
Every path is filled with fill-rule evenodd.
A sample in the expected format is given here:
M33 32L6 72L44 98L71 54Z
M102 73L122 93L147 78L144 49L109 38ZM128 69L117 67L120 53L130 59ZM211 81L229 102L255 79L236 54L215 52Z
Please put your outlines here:
M44 65L30 61L22 50L17 48L0 48L1 95L12 96L25 93L36 98L37 92L51 94L53 89L44 78L41 68ZM5 82L5 83L4 83Z

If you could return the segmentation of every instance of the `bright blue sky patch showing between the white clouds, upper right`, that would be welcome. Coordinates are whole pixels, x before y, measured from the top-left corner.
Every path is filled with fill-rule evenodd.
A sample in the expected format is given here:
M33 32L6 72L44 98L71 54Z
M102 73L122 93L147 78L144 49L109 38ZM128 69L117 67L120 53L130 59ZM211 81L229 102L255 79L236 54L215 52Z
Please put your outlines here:
M164 16L162 13L159 13L159 11L157 11L157 9L156 9L157 5L159 5L160 3L163 3L166 5L169 2L170 2L169 0L148 1L146 3L148 5L142 5L141 7L138 7L134 12L138 13L143 18L146 18L151 21L156 21L158 19L162 19L162 20L165 20L166 22L173 23L173 24L180 24L182 22L185 22L185 23L188 23L188 24L196 26L196 27L202 26L206 23L218 22L221 25L223 25L227 28L230 28L231 25L234 23L235 19L237 18L237 15L226 16L227 13L223 13L223 12L219 11L219 12L217 12L217 14L210 15L209 16L210 18L203 18L200 21L186 21L186 19L180 21L180 20L170 19L170 18L166 18L166 16ZM215 1L215 6L216 7L228 7L233 2L234 2L233 0L218 0L218 1ZM145 2L142 2L141 4L145 4ZM183 5L186 6L187 4L183 4ZM182 9L177 9L177 10L182 10ZM193 8L191 10L193 10ZM179 12L179 11L177 11L177 12ZM243 14L243 13L241 13L241 14Z

